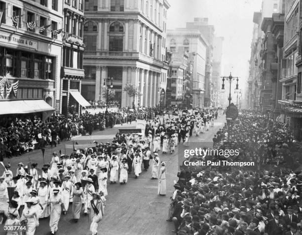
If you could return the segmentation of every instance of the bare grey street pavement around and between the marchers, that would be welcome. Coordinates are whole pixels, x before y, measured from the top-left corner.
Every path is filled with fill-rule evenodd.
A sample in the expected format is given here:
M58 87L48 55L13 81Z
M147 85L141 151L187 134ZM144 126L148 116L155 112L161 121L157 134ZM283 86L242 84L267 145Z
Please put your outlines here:
M215 126L210 130L197 137L191 137L190 141L210 142L213 134L223 126L225 116L219 118L215 122ZM75 141L79 146L83 144L93 145L93 140L98 142L111 141L113 135L116 134L118 128L135 128L132 125L115 126L103 132L94 132L92 136L79 136ZM57 148L48 148L45 151L45 162L51 157L51 151L59 151L64 153L64 144L71 145L71 141L61 143ZM88 146L87 145L87 146ZM76 146L75 146L76 147ZM66 149L66 153L70 154L72 149ZM32 162L37 162L38 167L43 165L41 151L26 154L13 159L5 159L4 164L11 162L12 170L15 172L15 166L18 162L26 164L29 157ZM151 169L135 179L134 173L129 175L126 185L108 184L107 205L105 208L105 216L99 224L99 234L102 235L165 235L172 234L174 226L170 222L166 222L170 197L173 191L174 180L177 180L178 156L177 153L162 154L159 153L160 161L166 162L167 167L167 195L157 195L157 180L151 180ZM59 229L57 235L90 235L89 226L91 221L88 216L81 215L78 223L72 220L72 208L69 208L67 215L61 215ZM49 219L40 220L40 226L36 230L37 235L50 235Z

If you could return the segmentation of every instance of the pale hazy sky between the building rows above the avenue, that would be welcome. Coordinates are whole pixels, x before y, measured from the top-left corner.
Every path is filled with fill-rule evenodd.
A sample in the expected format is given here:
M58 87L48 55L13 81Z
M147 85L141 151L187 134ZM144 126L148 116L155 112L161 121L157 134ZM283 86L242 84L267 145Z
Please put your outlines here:
M239 85L243 89L247 85L249 72L253 14L261 10L262 0L168 1L171 8L167 13L167 29L186 27L186 22L193 22L194 17L209 18L209 25L215 27L215 35L225 38L222 75L228 76L232 72L234 76L239 76Z

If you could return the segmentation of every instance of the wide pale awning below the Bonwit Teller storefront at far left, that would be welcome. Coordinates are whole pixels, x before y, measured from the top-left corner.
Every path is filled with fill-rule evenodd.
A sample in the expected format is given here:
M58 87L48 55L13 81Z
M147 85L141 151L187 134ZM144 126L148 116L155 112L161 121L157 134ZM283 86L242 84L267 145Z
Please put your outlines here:
M0 115L53 112L55 109L43 100L1 101Z

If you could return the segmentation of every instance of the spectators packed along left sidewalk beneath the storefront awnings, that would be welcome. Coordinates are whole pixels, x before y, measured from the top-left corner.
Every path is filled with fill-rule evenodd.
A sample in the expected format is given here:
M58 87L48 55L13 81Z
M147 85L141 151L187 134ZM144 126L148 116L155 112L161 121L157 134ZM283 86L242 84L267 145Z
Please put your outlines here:
M91 115L88 112L78 115L56 115L48 122L41 118L23 117L7 119L0 127L1 157L12 157L24 154L34 149L48 145L56 146L62 140L69 140L79 134L92 134L94 130L103 131L113 128L116 124L131 123L136 119L154 118L159 109L138 108L136 111L123 108L120 112L99 113Z

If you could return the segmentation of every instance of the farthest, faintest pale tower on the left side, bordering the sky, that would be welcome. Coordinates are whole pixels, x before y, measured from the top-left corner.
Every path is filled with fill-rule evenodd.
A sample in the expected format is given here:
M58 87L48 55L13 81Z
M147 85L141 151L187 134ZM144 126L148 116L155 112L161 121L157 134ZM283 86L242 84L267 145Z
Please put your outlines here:
M213 83L213 106L220 106L219 93L221 89L221 64L222 64L222 49L224 37L214 37L213 48L213 69L212 69L212 83Z

